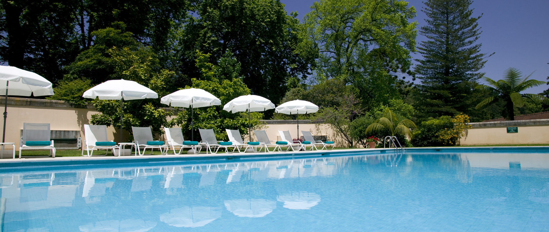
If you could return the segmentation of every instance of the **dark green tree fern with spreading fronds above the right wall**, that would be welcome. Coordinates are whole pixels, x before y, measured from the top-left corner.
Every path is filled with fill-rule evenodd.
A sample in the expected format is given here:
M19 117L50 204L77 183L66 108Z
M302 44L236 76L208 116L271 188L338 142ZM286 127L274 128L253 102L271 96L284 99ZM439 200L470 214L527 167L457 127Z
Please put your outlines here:
M522 72L513 67L503 72L503 79L494 81L488 77L484 77L483 80L488 83L489 86L484 84L479 85L478 88L489 89L494 94L482 101L480 101L476 109L480 109L486 105L495 103L497 101L503 101L505 103L505 108L503 109L502 115L505 116L508 120L514 120L514 110L515 107L522 107L524 105L524 99L528 98L534 101L542 101L544 104L549 104L549 98L546 98L539 94L520 94L520 92L535 86L540 86L546 82L537 81L537 80L528 80L532 75L521 77Z

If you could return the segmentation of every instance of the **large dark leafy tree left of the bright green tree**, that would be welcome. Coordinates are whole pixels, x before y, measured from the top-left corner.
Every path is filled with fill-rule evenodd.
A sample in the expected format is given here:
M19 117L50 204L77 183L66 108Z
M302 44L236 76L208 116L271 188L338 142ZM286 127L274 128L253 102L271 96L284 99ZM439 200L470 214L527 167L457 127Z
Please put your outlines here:
M199 17L175 31L173 69L182 80L200 76L194 50L211 54L215 64L227 51L241 64L239 76L251 90L273 102L287 91L290 79L306 77L308 58L294 52L299 20L276 0L205 0Z

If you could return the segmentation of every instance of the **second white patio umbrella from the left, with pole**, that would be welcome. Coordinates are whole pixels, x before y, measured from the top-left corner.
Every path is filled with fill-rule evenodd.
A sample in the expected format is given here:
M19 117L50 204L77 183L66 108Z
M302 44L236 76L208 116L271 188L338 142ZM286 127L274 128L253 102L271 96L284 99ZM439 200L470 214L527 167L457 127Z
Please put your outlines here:
M86 90L84 98L99 98L99 100L120 100L120 143L122 143L122 106L124 100L158 98L153 90L142 86L135 81L110 80Z

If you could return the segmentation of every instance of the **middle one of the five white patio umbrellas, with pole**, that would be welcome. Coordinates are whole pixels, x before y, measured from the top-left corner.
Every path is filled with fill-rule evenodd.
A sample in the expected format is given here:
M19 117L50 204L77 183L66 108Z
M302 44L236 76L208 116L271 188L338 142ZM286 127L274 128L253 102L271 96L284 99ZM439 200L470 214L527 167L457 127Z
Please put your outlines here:
M191 107L191 140L194 141L193 108L221 105L221 100L204 89L190 88L165 95L160 99L160 103L177 107Z

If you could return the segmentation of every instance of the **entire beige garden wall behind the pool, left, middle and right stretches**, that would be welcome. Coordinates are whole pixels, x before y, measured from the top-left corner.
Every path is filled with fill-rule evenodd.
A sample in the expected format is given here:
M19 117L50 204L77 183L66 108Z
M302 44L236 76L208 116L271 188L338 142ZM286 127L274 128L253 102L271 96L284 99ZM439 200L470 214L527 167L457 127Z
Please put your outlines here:
M0 103L3 102L4 98L0 97ZM10 97L8 98L5 142L15 143L16 148L19 148L20 130L23 129L24 122L50 123L51 129L57 131L80 131L83 139L83 125L89 123L93 114L97 114L97 110L91 105L77 106L63 101ZM279 130L289 131L293 138L297 137L296 120L262 120L262 122L265 123L265 131L271 140L280 140ZM470 124L473 127L468 130L467 137L461 139L462 145L549 144L549 119ZM518 127L518 133L507 133L507 127ZM299 121L299 130L300 135L301 131L310 131L313 135L326 135L327 140L334 141L337 146L348 146L338 133L324 123ZM118 142L117 131L113 127L108 127L110 140ZM255 137L252 139L255 140ZM356 143L355 145L358 147Z

